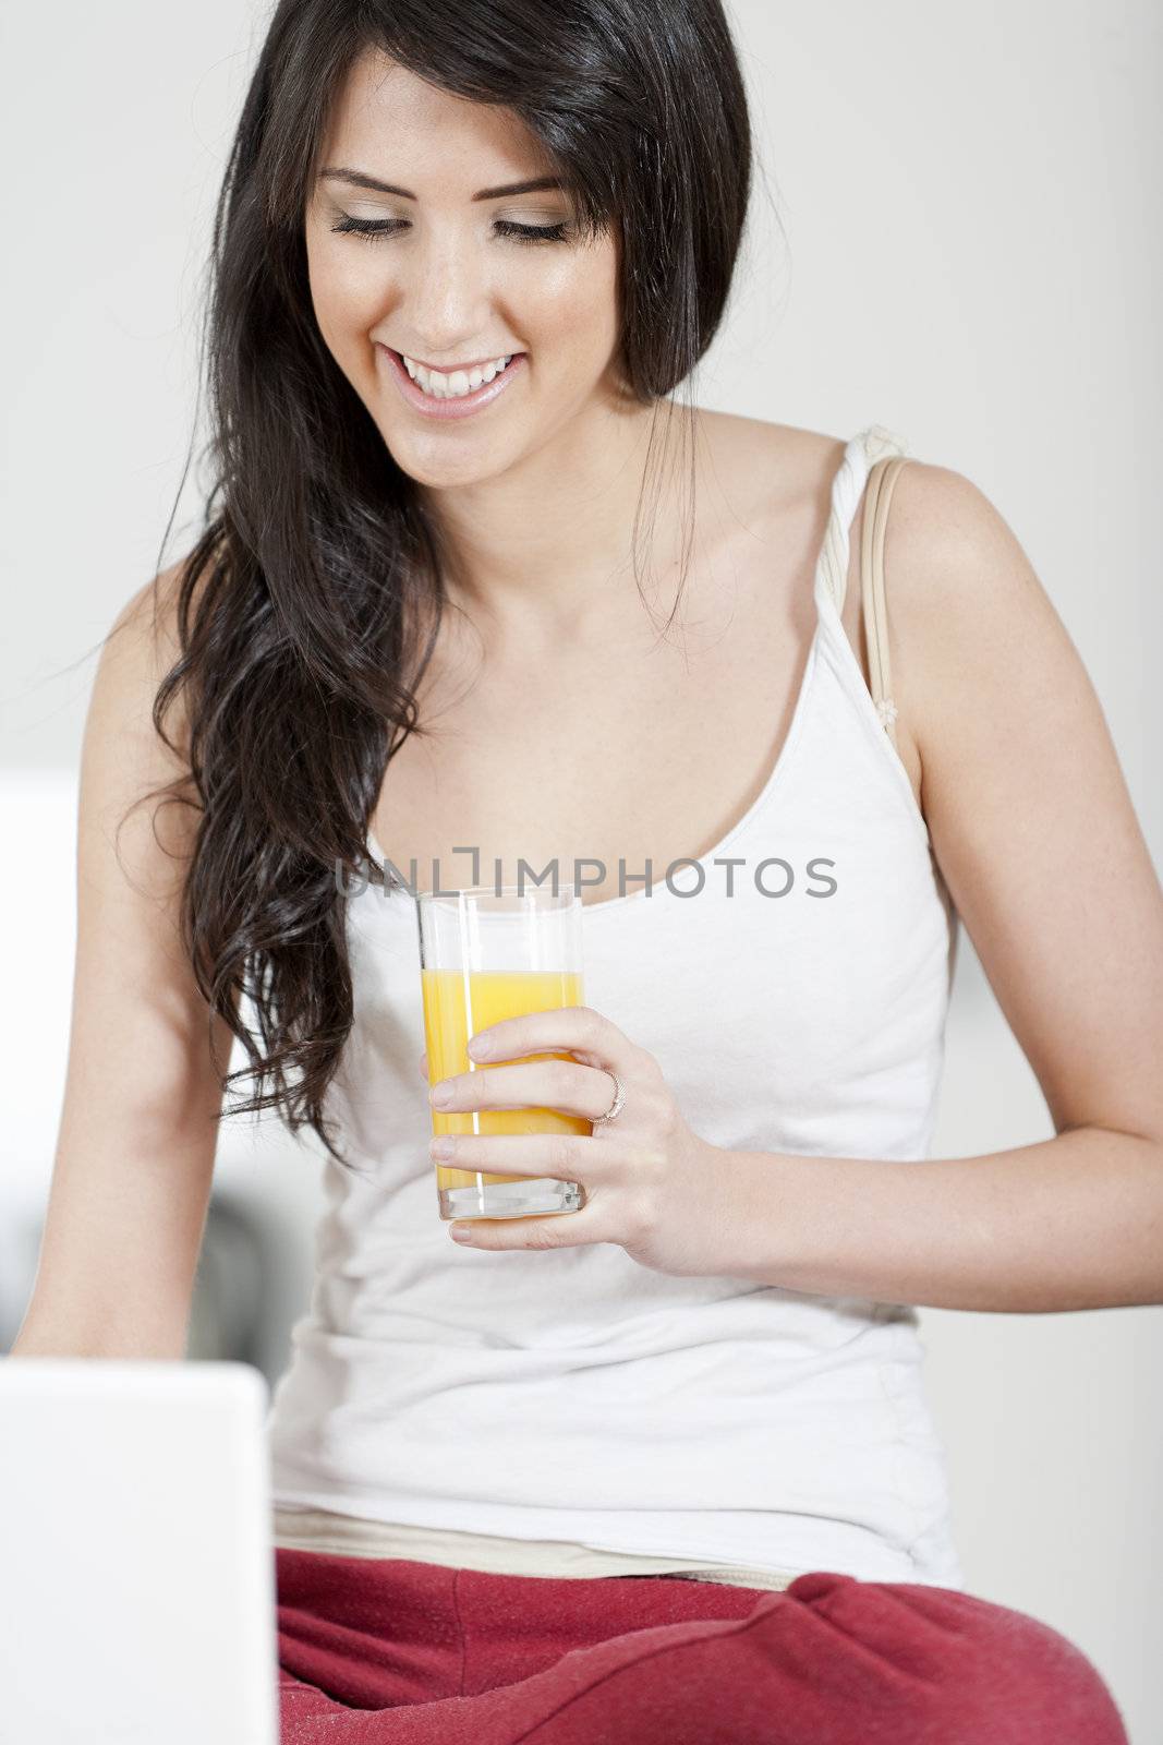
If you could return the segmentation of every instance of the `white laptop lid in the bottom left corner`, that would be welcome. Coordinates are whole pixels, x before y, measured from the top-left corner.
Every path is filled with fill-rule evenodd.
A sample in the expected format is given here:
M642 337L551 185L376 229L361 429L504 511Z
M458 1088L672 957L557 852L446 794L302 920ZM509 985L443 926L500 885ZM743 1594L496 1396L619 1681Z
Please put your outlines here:
M0 1735L277 1745L267 1382L0 1361Z

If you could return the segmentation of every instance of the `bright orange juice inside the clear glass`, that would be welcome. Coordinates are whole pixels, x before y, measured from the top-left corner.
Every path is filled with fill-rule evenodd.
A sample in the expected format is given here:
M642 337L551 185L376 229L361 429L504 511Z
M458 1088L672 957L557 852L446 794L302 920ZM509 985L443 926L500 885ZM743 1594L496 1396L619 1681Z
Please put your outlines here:
M527 1012L556 1012L563 1005L584 1005L582 979L575 970L422 970L424 1040L429 1084L455 1073L486 1073L506 1061L474 1063L467 1056L469 1037L499 1024L502 1017ZM568 1052L521 1054L527 1061L568 1061ZM584 1115L563 1115L554 1108L481 1108L432 1110L432 1134L439 1133L589 1133ZM499 1176L474 1169L450 1169L436 1164L436 1185L473 1187L476 1181L530 1181L534 1176Z

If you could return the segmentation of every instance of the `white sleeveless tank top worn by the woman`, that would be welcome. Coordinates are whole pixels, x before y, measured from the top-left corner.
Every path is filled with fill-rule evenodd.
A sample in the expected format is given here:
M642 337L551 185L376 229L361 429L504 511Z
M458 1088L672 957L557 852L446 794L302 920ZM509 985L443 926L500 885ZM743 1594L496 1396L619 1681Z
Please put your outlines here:
M755 804L670 886L654 869L650 895L582 909L586 1003L717 1146L928 1153L957 916L840 623L868 468L901 452L879 426L846 447L807 667ZM457 1248L427 1152L415 899L368 885L349 941L328 1113L357 1173L323 1166L310 1309L269 1419L275 1543L961 1588L915 1309L670 1277L612 1242Z

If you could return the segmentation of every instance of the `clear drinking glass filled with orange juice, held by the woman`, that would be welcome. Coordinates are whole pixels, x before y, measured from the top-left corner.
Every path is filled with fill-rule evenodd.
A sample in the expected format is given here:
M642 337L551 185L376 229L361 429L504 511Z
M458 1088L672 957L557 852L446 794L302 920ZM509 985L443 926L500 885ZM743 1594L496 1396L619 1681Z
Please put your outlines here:
M453 1073L488 1073L504 1061L471 1061L467 1044L502 1017L582 1005L581 897L516 885L424 892L417 900L420 984L429 1085ZM568 1050L523 1054L525 1061L572 1059ZM441 1133L591 1133L582 1115L554 1108L432 1110ZM577 1181L502 1176L436 1164L441 1218L528 1218L579 1211Z

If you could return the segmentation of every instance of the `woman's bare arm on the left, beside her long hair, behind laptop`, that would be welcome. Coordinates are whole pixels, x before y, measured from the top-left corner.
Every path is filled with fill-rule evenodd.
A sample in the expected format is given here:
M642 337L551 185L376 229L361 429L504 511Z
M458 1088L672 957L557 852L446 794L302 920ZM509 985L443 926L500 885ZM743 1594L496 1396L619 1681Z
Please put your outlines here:
M181 710L167 722L178 754L150 719L178 654L178 571L119 614L89 703L68 1078L37 1279L12 1356L183 1358L187 1349L221 1110L207 1005L178 932L197 811L134 808L188 768L185 726L174 724ZM30 850L35 860L37 845ZM221 1017L214 1049L225 1063Z

